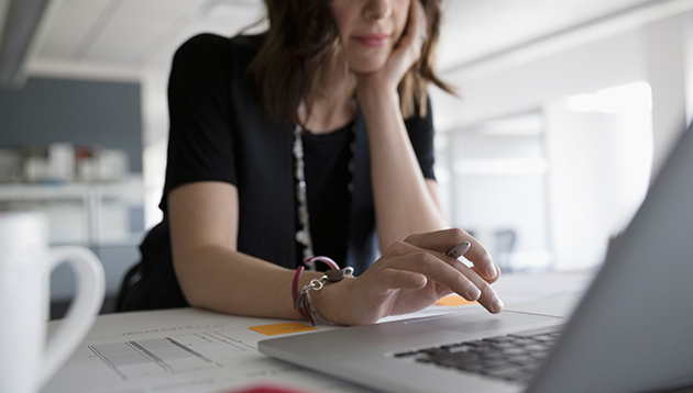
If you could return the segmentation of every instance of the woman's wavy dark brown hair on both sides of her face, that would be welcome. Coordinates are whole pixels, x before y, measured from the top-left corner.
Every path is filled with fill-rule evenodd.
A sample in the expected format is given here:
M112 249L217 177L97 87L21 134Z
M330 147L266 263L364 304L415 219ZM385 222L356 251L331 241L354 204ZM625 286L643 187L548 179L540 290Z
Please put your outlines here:
M427 15L428 38L421 58L399 83L402 113L406 117L426 115L427 85L433 82L453 93L433 70L433 59L440 36L440 1L421 1ZM312 104L309 92L320 82L320 67L338 50L339 32L330 1L265 0L270 29L263 33L262 46L250 65L250 72L260 87L262 106L274 122L298 122L298 105L306 102L308 114Z

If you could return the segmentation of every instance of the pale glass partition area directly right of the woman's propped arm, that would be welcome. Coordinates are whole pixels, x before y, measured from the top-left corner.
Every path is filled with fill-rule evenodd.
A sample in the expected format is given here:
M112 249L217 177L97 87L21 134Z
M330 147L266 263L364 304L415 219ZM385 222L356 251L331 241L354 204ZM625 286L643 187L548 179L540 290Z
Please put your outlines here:
M452 157L450 179L439 179L453 201L452 225L472 233L504 271L546 269L551 261L543 124L527 124L528 117L540 119L524 114L446 133L447 149L437 155Z

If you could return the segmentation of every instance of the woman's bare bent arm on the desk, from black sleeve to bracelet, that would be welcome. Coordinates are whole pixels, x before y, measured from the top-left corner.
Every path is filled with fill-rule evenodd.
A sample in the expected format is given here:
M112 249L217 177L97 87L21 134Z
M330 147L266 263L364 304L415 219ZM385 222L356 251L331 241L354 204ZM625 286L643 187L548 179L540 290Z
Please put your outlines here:
M168 196L173 263L187 302L220 313L300 318L295 270L237 250L238 191L222 182L180 186ZM306 285L318 273L306 272Z

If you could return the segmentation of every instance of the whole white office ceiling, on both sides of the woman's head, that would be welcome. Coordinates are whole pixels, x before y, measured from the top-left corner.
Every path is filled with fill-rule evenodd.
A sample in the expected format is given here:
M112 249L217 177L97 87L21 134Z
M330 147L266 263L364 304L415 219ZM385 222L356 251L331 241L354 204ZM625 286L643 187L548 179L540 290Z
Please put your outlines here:
M447 0L439 67L464 67L673 2L691 1ZM262 0L51 0L25 70L30 76L139 80L145 72L167 72L174 50L187 37L199 32L233 35L263 13Z

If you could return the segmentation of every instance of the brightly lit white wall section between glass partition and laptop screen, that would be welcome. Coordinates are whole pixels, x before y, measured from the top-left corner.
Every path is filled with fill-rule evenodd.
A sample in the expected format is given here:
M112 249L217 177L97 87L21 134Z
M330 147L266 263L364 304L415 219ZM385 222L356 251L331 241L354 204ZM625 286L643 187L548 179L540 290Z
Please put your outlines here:
M573 112L563 100L547 105L544 113L553 268L593 267L645 198L652 157L650 115Z

